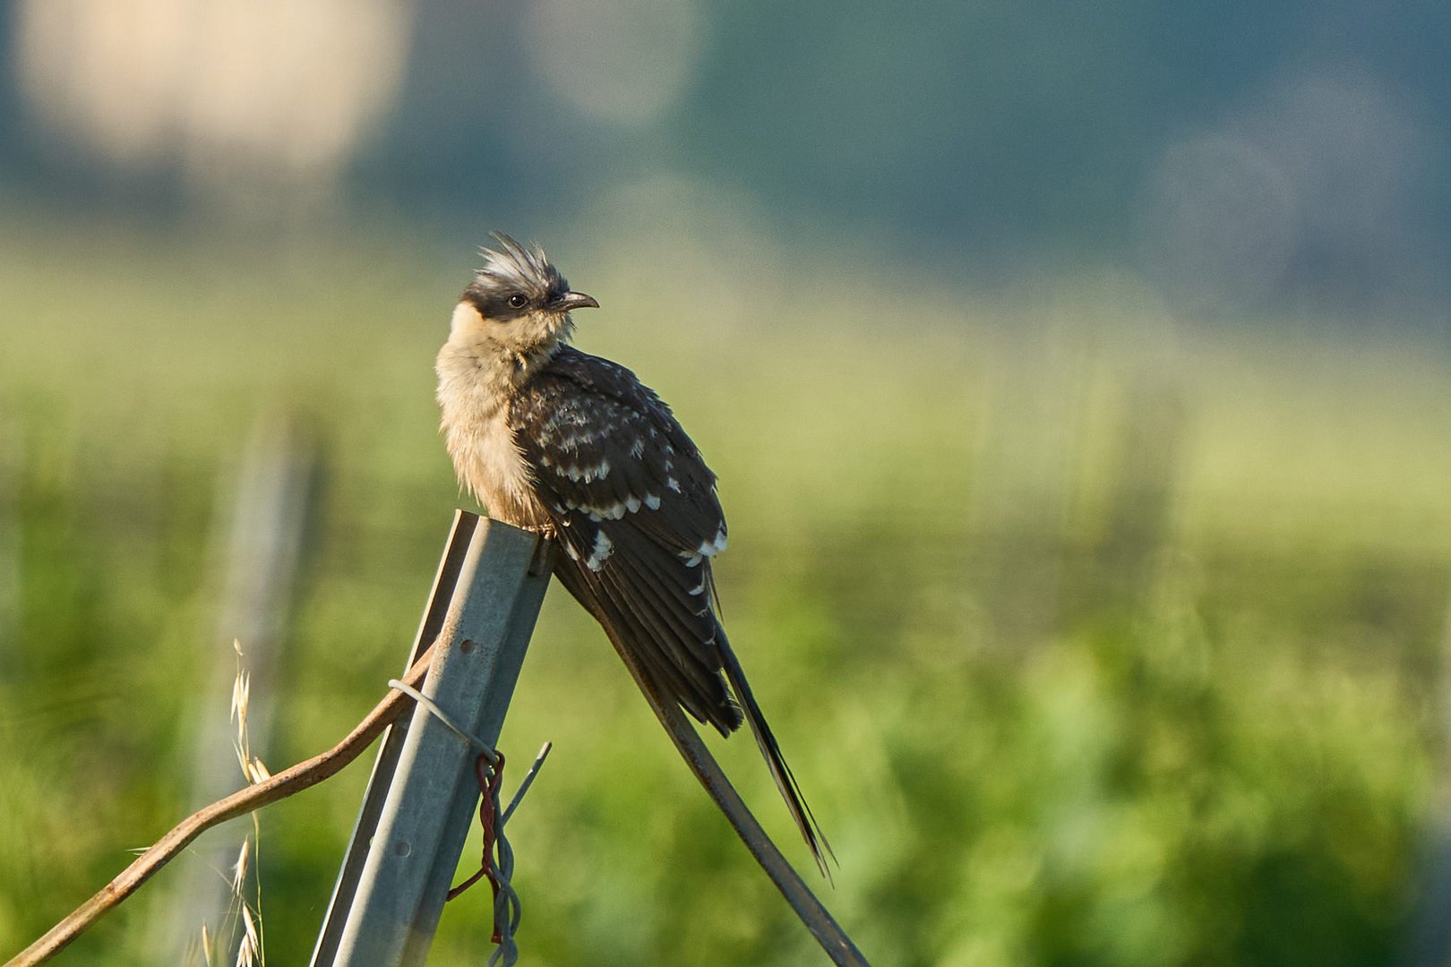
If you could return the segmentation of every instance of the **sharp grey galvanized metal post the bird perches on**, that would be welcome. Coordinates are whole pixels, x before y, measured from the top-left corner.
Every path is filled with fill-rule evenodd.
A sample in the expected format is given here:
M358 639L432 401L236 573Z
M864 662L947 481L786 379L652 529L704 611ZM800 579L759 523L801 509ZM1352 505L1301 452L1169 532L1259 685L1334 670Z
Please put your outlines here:
M422 692L489 745L547 587L537 535L459 512L409 661L437 638ZM313 967L424 963L479 802L476 755L427 709L390 729Z

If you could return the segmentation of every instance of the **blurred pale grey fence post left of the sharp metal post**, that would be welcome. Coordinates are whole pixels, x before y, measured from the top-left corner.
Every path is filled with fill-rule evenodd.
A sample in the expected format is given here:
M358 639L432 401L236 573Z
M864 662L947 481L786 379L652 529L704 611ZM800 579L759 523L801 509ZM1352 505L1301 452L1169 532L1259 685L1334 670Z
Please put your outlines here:
M231 518L218 515L213 541L225 551L222 599L216 634L203 639L215 652L210 680L199 692L196 744L192 755L192 806L229 794L247 780L235 748L235 726L226 718L228 696L238 674L232 642L241 642L242 667L251 678L247 710L248 745L266 761L273 710L284 660L286 631L299 597L299 573L306 547L316 531L322 461L316 441L297 420L264 415L252 425L238 476L218 487L218 506L234 494ZM229 883L245 832L228 823L210 831L193 847L181 876L155 903L151 960L158 964L200 963L194 954L206 925L213 948L237 948L238 900ZM247 828L250 832L250 826ZM255 881L255 857L248 881Z

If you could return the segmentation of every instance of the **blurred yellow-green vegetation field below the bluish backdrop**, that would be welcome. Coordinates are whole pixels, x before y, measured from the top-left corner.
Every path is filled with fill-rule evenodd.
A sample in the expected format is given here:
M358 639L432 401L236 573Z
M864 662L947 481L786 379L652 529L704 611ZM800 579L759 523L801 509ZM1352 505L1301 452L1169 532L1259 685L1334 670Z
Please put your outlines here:
M326 455L267 764L341 736L416 625L460 502L431 362L472 254L257 248L0 238L0 954L187 812L192 732L228 715L203 687L231 648L216 544L260 416ZM721 476L726 621L874 963L1396 955L1438 787L1444 349L1171 323L1110 275L987 302L628 252L556 252L604 304L577 342ZM502 745L546 738L509 828L524 963L817 963L559 589ZM808 867L753 745L714 748ZM270 963L311 951L364 781L261 815ZM152 963L171 874L58 963ZM480 887L437 963L488 935Z

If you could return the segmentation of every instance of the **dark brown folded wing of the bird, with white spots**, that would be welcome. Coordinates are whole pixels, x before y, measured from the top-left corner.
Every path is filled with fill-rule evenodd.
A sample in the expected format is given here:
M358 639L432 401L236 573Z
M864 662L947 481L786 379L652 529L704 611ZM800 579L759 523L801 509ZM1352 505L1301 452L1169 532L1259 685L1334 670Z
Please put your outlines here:
M739 726L711 609L726 520L715 476L669 407L624 367L566 349L515 397L509 423L564 551L564 586L663 697L723 734Z

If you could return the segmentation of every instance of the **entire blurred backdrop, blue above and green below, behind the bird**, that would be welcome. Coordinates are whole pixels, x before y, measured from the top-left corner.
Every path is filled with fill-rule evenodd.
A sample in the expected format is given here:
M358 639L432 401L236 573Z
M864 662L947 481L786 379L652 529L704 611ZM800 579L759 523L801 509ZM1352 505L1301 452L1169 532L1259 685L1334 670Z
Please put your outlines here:
M726 621L874 963L1447 963L1444 7L0 12L0 953L241 781L234 638L284 644L273 770L398 673L499 228L721 476ZM268 626L229 561L286 441ZM502 747L544 739L524 963L820 960L557 589ZM364 781L261 813L271 963ZM202 963L181 884L250 832L58 963ZM466 895L434 960L488 935Z

